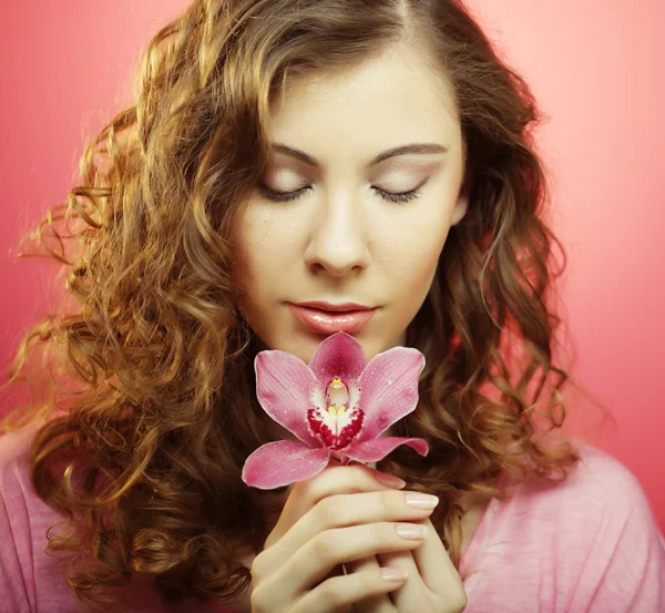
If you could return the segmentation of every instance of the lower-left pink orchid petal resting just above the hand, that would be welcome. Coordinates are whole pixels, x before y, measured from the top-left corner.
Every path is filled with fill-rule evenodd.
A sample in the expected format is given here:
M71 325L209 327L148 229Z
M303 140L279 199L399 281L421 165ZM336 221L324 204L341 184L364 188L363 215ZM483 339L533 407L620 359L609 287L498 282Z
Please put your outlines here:
M301 442L278 440L254 451L243 467L243 481L259 490L272 490L304 481L328 466L327 449L311 449Z

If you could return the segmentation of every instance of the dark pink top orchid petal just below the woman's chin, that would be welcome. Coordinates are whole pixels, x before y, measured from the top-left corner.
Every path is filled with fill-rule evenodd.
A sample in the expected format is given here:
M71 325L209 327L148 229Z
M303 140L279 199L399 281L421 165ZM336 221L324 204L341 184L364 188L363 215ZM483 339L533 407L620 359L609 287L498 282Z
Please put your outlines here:
M366 366L362 346L346 333L336 333L324 339L309 360L309 368L324 385L332 377L357 381Z

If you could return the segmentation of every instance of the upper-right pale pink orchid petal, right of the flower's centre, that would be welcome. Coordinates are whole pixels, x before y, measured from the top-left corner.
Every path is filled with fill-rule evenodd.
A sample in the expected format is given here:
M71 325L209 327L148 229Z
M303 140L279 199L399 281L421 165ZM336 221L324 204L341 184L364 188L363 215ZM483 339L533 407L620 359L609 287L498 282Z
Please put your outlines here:
M418 380L424 356L410 347L378 354L367 365L358 385L365 423L360 441L372 440L418 405Z

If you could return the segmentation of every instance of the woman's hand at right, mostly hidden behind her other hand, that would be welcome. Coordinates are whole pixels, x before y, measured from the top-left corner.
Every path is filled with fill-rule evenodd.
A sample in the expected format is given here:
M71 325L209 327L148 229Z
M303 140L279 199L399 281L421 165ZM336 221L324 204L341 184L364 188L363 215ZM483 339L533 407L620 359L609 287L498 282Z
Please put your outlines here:
M462 580L429 519L422 544L413 551L379 554L345 564L350 573L381 568L405 571L408 580L397 591L356 604L354 613L460 613L467 606ZM352 576L352 574L351 574Z

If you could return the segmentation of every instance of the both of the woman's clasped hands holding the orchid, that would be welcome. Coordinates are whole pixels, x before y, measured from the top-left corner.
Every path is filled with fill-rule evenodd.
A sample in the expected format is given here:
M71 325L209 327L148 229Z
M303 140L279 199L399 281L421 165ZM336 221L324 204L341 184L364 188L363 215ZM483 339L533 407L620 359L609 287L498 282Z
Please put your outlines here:
M252 564L252 607L241 613L463 611L462 582L428 519L433 508L410 505L405 494L412 492L386 487L377 480L382 474L331 462L296 483ZM424 527L426 533L405 537L397 527ZM402 570L406 578L383 581L375 554L390 558L381 566Z

